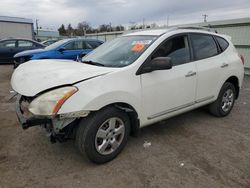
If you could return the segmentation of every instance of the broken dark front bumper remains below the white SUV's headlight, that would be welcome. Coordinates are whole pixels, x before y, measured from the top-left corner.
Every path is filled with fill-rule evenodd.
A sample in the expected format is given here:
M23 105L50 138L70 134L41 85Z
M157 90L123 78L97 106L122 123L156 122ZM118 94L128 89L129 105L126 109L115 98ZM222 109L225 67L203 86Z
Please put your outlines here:
M23 102L23 97L21 95L18 95L16 100L16 115L23 129L27 129L29 127L37 125L46 125L46 124L52 125L51 119L46 117L40 117L40 116L32 116L30 118L25 117L24 112L22 110L22 105L21 105L22 102Z

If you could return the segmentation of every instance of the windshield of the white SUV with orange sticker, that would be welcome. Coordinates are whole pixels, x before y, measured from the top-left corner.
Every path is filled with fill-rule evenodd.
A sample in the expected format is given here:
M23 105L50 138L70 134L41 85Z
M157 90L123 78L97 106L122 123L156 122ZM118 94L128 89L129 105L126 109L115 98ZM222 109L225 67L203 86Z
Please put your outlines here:
M107 67L124 67L138 59L155 39L155 36L118 37L102 44L84 56L82 61Z

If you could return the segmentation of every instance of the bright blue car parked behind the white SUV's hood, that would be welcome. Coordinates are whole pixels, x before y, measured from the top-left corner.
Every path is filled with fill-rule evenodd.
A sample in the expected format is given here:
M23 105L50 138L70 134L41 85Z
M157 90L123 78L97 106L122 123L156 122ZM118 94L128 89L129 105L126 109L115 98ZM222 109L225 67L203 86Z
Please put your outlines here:
M103 42L95 39L64 39L55 42L44 49L27 50L14 56L14 68L20 64L34 59L72 59L77 60L91 52Z

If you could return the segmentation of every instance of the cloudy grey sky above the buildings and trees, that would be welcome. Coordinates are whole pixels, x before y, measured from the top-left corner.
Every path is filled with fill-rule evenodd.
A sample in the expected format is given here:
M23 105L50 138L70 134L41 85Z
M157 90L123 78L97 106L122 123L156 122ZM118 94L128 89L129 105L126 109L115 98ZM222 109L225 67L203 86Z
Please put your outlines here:
M87 21L100 24L158 25L250 17L250 0L1 0L0 16L38 19L39 26L57 29L61 24ZM167 21L168 20L168 21Z

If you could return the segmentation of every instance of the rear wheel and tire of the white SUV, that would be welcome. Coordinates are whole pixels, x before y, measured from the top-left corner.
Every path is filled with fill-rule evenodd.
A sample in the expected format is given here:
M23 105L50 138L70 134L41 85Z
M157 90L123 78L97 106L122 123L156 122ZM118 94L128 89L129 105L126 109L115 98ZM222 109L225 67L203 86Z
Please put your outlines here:
M209 105L209 112L217 117L227 116L234 106L235 98L235 86L230 82L225 82L217 100Z

